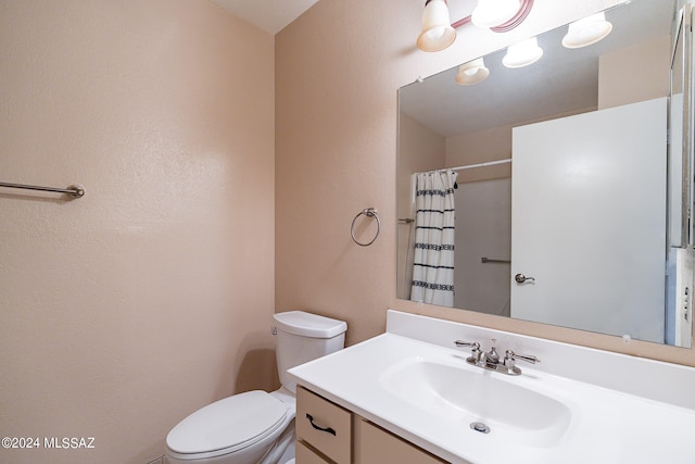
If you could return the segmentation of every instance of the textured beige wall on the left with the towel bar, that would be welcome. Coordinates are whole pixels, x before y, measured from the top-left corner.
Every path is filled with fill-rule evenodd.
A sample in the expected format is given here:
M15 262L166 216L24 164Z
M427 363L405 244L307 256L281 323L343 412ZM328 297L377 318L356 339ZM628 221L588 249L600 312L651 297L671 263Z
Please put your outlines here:
M3 463L138 463L277 385L274 37L202 0L0 0Z

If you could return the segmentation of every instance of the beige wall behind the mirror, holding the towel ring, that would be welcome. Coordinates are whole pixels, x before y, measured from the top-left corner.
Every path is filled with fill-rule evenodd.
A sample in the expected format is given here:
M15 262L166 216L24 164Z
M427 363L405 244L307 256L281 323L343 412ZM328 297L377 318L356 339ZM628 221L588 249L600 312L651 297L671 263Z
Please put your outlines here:
M418 76L619 3L536 0L508 34L471 26L439 53L415 48L421 0L320 0L276 36L276 308L309 309L349 323L348 342L383 330L389 306L682 363L692 350L446 310L395 296L396 89ZM453 18L455 20L455 18ZM350 238L364 208L382 231L367 248Z

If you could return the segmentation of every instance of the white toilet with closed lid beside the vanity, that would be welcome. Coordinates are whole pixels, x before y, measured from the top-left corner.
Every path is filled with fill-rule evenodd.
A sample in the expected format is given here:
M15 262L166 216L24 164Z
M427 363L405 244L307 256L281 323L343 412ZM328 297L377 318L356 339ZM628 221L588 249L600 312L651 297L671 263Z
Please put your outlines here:
M169 464L291 464L295 389L287 371L341 350L348 324L303 311L274 315L280 384L270 393L247 391L208 404L166 436Z

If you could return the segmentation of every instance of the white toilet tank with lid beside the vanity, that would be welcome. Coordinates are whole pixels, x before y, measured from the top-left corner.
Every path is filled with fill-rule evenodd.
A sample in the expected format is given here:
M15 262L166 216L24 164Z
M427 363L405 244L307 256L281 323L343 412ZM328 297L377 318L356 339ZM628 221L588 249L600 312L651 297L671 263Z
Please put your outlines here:
M304 311L277 313L274 318L274 333L277 333L275 355L280 383L294 393L296 383L290 379L287 371L342 350L348 324Z

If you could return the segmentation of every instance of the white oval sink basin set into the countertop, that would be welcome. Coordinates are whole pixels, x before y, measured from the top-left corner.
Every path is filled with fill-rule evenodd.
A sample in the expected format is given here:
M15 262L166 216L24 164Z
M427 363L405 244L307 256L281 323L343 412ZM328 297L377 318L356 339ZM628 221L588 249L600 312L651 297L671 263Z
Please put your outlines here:
M387 368L379 378L379 385L394 397L442 421L454 422L466 434L484 436L470 426L482 423L495 440L536 447L556 444L571 424L570 407L521 386L523 383L521 377L469 366L459 358L406 359Z

